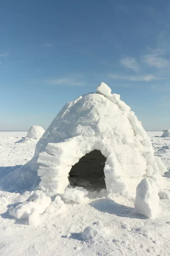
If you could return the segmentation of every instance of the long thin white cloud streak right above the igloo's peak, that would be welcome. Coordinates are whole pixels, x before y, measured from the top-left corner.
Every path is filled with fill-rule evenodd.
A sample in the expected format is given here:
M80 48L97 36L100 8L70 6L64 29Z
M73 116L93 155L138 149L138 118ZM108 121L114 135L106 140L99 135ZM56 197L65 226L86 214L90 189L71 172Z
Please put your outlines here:
M129 81L152 81L157 80L156 76L153 76L151 74L148 75L136 75L136 76L124 76L119 74L108 74L108 76L114 80L129 80Z

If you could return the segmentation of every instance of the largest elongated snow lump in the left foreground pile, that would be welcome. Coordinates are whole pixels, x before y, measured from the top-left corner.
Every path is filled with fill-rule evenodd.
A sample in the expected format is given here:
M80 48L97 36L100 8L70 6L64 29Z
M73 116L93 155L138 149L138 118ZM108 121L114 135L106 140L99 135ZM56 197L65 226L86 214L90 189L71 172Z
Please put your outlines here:
M32 214L33 218L37 214L42 214L51 204L51 198L42 191L37 190L25 202L9 209L9 215L17 219L27 219ZM33 211L36 209L37 211Z

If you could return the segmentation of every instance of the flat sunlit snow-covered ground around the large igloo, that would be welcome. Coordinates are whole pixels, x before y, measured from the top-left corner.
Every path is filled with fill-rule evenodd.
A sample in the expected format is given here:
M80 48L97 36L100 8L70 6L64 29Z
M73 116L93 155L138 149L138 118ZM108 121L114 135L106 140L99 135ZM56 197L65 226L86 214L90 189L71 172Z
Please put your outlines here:
M35 142L15 143L26 137L26 134L0 132L0 177L10 168L14 168L12 166L23 165L33 157ZM162 132L149 131L148 135L156 156L161 157L170 171L170 138L157 137L161 136ZM164 179L169 178L170 173L165 173ZM170 255L169 199L159 201L161 213L157 218L147 219L135 214L134 200L115 195L111 198L113 201L106 197L105 189L98 194L94 192L85 197L83 204L78 203L81 201L82 193L79 193L78 199L76 194L71 195L77 203L64 198L60 201L59 197L55 200L52 198L51 203L43 195L32 202L32 197L34 200L37 198L32 191L11 193L0 189L0 255ZM69 192L65 198L69 198ZM25 203L18 206L17 213L11 208L27 199L27 205L32 210L29 218L12 217L11 215L28 213ZM43 212L42 201L48 208L45 213L39 215L36 207Z

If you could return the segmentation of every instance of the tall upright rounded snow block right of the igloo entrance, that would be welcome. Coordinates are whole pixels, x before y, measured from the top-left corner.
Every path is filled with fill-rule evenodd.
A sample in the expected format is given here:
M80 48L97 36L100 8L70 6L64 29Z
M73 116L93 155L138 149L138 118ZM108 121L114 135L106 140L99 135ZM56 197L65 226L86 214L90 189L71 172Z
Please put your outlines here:
M158 188L150 177L144 178L136 188L135 212L148 218L160 212Z

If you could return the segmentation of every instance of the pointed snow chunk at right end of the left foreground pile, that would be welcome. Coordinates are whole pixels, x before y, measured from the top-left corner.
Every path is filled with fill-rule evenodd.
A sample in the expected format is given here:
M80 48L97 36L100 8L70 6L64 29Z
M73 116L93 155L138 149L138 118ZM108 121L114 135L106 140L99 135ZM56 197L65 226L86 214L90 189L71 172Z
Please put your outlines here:
M61 200L60 196L57 195L54 202L52 202L46 209L46 212L49 214L59 215L62 212L65 212L65 210L66 210L65 203Z

